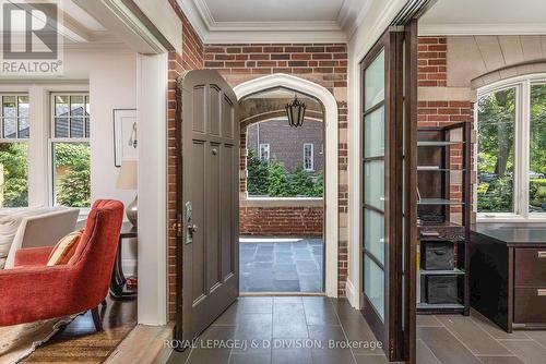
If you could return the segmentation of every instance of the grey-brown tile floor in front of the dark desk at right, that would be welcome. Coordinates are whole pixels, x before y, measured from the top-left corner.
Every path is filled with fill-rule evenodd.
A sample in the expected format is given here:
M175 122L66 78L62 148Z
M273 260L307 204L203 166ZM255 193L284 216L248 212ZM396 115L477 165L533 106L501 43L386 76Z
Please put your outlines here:
M544 364L546 331L507 333L477 312L417 316L418 364Z

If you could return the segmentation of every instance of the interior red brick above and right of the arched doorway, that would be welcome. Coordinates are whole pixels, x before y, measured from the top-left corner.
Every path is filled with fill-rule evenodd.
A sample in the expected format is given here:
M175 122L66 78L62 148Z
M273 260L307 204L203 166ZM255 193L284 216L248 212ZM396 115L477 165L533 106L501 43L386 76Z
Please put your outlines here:
M232 86L272 73L287 73L312 81L328 88L347 87L346 44L259 44L206 45L204 66L218 70ZM347 105L337 99L339 111L339 173L340 173L340 239L339 294L345 296L347 279ZM241 135L241 142L244 136ZM241 160L241 163L244 161Z

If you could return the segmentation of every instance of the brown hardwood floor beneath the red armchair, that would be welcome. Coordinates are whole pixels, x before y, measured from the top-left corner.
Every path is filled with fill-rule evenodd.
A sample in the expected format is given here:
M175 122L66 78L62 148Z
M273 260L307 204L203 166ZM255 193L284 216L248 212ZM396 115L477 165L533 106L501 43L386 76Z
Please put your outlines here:
M108 299L96 332L91 313L78 316L64 330L39 347L23 363L102 363L136 325L136 301Z

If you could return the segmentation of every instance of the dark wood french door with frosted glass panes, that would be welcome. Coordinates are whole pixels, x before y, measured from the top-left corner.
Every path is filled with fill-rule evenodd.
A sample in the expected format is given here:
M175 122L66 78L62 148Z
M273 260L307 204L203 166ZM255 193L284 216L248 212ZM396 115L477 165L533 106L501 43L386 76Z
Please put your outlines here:
M363 314L390 361L415 356L416 22L361 62Z

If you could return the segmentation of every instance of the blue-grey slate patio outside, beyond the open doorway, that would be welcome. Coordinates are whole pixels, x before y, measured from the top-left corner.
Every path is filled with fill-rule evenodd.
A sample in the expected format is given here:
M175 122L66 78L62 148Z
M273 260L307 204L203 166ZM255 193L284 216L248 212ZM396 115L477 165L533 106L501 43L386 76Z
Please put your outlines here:
M239 244L241 292L322 292L322 239L250 239Z

